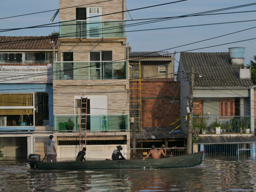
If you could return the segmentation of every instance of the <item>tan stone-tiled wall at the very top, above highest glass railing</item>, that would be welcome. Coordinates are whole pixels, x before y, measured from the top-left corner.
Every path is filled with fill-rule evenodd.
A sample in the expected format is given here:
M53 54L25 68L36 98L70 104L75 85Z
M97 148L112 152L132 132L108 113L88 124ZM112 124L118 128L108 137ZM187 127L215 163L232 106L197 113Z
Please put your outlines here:
M116 13L121 11L126 11L126 0L115 0L115 1L108 1L103 3L96 3L101 2L102 0L60 0L59 1L59 8L60 8L60 21L64 20L75 20L76 19L76 7L84 5L80 7L101 7L102 15ZM90 3L96 3L91 5L85 5ZM73 7L68 9L62 9L66 7ZM118 13L112 15L102 16L102 20L126 20L126 13Z

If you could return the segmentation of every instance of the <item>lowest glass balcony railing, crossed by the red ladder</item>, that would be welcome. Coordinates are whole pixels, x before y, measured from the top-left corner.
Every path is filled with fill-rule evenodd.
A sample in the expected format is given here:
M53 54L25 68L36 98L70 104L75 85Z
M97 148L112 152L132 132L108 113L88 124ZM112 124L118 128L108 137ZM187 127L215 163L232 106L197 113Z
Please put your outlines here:
M84 123L85 119L82 119L82 129L85 129ZM87 115L86 123L86 130L89 132L129 131L128 114ZM54 115L54 130L57 132L79 132L80 115Z

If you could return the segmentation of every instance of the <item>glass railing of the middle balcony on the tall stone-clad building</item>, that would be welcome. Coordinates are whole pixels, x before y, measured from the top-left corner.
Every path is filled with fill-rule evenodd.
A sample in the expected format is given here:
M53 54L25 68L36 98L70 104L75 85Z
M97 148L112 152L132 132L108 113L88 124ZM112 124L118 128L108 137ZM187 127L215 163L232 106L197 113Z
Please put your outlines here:
M54 62L54 80L128 79L128 62Z

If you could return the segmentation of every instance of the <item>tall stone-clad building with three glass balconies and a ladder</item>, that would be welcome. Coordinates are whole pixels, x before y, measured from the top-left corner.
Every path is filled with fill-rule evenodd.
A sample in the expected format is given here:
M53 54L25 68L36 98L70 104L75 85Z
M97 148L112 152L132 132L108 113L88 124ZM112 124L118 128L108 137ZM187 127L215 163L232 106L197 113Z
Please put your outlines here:
M125 11L126 1L60 0L59 7L59 62L54 62L53 80L58 160L75 159L79 144L86 144L87 159L111 159L117 145L128 158L126 13L113 14Z

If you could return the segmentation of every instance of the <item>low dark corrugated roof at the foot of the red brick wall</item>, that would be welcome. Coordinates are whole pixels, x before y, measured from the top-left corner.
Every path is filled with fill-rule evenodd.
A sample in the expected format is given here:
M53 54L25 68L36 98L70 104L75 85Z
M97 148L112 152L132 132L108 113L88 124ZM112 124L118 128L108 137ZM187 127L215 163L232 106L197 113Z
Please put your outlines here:
M185 138L186 134L182 132L181 128L175 129L175 126L163 126L163 127L143 127L142 132L136 133L136 139L179 139ZM174 130L180 132L172 133L169 132ZM132 135L131 135L132 139Z

